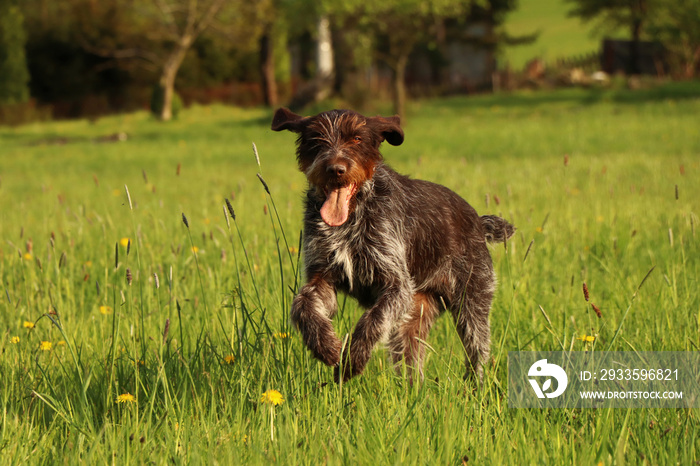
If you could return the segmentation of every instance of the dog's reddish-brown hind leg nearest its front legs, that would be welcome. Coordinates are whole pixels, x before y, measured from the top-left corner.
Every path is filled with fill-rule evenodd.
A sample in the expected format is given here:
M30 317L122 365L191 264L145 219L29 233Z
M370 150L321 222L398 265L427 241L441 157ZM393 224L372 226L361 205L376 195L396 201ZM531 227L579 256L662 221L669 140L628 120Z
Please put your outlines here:
M400 374L402 362L405 363L410 383L423 381L426 340L439 314L435 299L416 293L413 309L397 323L389 339L394 367Z

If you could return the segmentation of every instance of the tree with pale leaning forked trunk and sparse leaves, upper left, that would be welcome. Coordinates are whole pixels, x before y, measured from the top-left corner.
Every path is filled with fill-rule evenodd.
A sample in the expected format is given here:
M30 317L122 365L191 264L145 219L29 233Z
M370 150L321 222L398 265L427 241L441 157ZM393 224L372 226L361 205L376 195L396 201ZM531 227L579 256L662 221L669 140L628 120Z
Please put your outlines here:
M175 79L185 55L207 29L226 29L218 20L250 8L231 0L76 1L83 46L117 60L137 60L158 74L161 120L172 118ZM94 45L97 44L97 45Z

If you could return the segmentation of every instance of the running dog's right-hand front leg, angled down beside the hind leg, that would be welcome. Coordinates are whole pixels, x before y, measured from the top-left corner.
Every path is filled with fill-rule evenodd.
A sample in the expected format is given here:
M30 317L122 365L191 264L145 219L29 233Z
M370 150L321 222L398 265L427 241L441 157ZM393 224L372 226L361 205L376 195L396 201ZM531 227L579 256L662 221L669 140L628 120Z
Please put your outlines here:
M379 295L376 303L360 320L352 333L350 350L347 348L341 356L341 365L335 369L335 380L348 380L359 375L365 369L374 346L388 337L394 323L411 309L413 290L410 281L398 281L387 285Z

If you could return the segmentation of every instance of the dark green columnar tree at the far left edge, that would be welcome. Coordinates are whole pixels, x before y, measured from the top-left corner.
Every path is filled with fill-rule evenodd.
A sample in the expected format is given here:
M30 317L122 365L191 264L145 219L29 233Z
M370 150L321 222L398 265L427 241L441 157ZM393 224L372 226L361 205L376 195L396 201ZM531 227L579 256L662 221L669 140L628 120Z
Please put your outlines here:
M0 104L29 100L23 22L14 0L0 0Z

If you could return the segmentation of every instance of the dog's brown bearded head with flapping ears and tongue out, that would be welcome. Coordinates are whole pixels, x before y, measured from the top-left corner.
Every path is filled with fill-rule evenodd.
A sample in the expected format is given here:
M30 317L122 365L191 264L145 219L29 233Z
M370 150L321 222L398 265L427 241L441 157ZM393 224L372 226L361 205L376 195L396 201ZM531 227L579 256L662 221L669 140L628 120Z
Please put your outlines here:
M399 117L365 117L350 110L331 110L302 117L280 108L272 119L274 131L299 134L297 161L309 183L325 199L321 217L329 226L348 220L356 206L355 194L374 176L382 160L379 145L403 142Z

